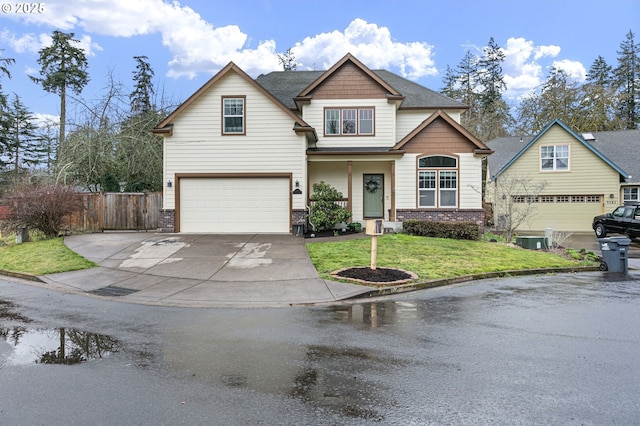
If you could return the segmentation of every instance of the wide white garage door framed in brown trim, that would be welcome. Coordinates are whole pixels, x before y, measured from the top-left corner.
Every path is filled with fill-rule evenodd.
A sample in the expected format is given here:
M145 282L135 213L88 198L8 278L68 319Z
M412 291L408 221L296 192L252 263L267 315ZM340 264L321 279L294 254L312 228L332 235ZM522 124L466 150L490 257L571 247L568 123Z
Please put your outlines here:
M289 179L181 178L180 232L288 233Z

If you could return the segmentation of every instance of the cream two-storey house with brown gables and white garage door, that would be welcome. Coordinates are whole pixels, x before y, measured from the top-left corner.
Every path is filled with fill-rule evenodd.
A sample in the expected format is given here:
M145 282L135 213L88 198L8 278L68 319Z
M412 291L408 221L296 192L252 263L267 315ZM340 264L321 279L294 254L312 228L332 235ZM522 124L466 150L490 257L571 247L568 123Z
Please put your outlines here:
M492 151L459 124L465 109L352 55L256 79L230 63L153 130L164 138L162 228L298 233L321 181L342 192L353 221L482 228Z

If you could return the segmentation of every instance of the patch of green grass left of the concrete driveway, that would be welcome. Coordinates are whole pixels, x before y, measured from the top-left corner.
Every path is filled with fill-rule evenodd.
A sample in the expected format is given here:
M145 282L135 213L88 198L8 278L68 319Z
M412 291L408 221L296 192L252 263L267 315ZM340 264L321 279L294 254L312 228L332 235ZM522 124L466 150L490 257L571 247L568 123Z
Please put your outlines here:
M46 275L94 266L94 262L69 250L62 238L0 247L0 270Z

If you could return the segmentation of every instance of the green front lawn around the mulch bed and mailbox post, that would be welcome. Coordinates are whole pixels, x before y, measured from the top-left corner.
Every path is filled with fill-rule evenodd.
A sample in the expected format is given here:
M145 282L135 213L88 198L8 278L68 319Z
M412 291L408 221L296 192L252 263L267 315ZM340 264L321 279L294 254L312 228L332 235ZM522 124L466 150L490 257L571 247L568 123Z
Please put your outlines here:
M370 266L371 239L307 244L311 261L327 279L341 268ZM421 281L485 272L595 266L553 252L525 250L501 243L390 234L378 237L378 267L401 268Z

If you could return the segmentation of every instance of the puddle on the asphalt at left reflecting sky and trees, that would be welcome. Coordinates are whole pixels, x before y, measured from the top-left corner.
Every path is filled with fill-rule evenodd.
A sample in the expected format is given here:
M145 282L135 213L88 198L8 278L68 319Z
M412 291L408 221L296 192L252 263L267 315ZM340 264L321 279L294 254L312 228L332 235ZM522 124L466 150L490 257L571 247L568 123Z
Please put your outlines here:
M118 352L117 340L86 331L0 327L0 365L72 365Z

